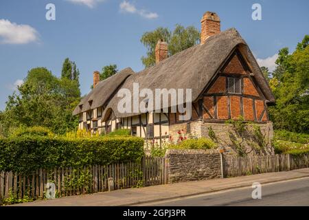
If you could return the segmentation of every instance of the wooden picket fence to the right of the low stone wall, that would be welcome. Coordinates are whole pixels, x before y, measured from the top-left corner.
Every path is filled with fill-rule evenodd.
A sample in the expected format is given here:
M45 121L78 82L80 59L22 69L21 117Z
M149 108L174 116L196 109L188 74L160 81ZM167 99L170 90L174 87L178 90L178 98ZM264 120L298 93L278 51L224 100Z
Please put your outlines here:
M238 177L258 173L271 173L309 167L309 155L292 156L288 154L224 157L225 177Z

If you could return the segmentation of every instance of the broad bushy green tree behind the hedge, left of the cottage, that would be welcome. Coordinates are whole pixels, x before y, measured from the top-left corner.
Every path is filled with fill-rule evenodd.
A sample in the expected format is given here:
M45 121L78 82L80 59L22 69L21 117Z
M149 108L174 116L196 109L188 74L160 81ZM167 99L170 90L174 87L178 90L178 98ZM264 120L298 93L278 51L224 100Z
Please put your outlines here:
M76 80L56 78L45 67L31 69L0 113L1 135L8 136L20 126L44 126L56 134L75 130L78 118L72 111L79 100Z

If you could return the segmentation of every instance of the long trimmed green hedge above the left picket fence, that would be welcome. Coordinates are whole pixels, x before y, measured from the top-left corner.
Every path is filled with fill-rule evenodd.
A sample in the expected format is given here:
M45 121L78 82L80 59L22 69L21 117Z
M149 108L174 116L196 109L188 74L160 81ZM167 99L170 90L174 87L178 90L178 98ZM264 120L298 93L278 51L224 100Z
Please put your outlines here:
M140 137L8 137L0 139L0 170L26 174L38 168L82 167L138 160Z

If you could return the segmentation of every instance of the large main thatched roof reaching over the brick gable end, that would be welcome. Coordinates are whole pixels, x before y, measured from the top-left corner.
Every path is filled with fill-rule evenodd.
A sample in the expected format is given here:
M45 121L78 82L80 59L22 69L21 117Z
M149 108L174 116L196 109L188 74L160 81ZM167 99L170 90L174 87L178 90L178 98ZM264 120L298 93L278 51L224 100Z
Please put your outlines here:
M110 79L108 83L115 83L117 86L121 85L121 88L129 89L131 94L133 94L133 83L139 83L139 91L145 88L151 89L154 93L155 89L192 89L192 101L195 101L198 100L210 80L221 69L236 47L238 47L242 56L249 62L255 80L258 82L265 98L269 102L274 102L275 98L258 63L255 61L247 43L234 28L210 36L203 45L190 47L187 50L166 58L153 67L144 69L137 74L131 74L122 85L116 79ZM93 102L95 102L95 99L106 100L106 98L100 97L105 97L106 94L111 95L111 92L104 87L100 89L100 92L95 93L91 97L93 98ZM106 102L106 108L102 115L103 120L107 118L111 110L117 118L141 114L120 113L117 110L117 104L121 99L114 93L111 99ZM143 99L139 98L139 102ZM100 101L100 104L102 103ZM133 95L131 104L133 106ZM92 105L91 109L95 107L98 107L98 104ZM81 111L84 111L84 108Z

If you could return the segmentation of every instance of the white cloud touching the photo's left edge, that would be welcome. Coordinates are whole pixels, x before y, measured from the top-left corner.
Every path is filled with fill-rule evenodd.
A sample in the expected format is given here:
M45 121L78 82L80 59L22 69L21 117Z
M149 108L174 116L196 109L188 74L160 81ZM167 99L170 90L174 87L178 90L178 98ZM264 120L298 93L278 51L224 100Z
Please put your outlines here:
M0 19L0 43L24 44L38 40L38 32L30 25L18 25Z

